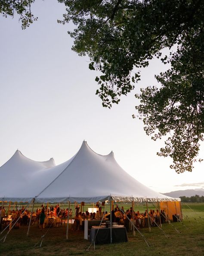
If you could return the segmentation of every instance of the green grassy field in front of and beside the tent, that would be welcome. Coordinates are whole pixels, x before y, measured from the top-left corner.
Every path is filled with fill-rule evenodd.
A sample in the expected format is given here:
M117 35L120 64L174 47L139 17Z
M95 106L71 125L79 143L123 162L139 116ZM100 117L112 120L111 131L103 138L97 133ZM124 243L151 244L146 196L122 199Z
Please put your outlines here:
M130 207L130 205L123 205L125 209ZM0 241L0 254L4 256L204 256L204 204L192 203L188 205L194 211L184 204L182 212L185 219L182 223L172 223L173 226L163 224L163 230L169 238L166 238L158 227L151 228L151 232L147 228L140 229L151 245L150 247L146 245L138 233L136 233L135 237L133 237L132 233L128 233L128 243L96 245L95 252L93 251L93 246L90 251L86 251L90 243L83 239L83 231L69 230L68 240L65 240L66 227L64 226L49 229L43 238L42 246L38 247L42 234L45 234L48 229L40 231L36 224L31 226L29 237L26 236L27 227L22 226L19 230L11 230L5 243ZM150 207L153 208L152 206ZM137 205L135 207L135 210L139 211L144 209L145 205ZM108 205L107 210L109 210ZM175 228L180 231L179 234ZM34 247L37 242L39 242L38 245Z

